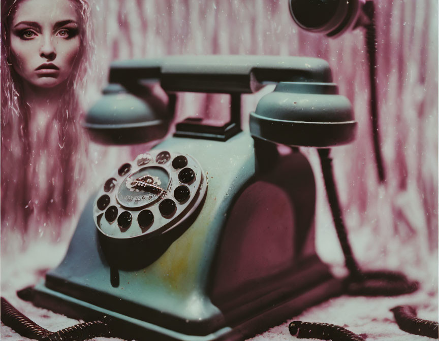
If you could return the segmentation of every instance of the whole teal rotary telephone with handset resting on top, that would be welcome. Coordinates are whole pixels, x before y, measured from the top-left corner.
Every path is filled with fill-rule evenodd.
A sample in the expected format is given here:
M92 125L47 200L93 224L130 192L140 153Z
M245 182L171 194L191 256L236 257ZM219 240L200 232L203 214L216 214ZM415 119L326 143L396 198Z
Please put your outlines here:
M65 259L33 288L36 305L109 319L126 339L207 341L250 337L343 292L316 254L315 179L297 148L355 137L325 61L169 56L115 62L109 80L84 122L100 142L163 137L177 91L230 94L231 119L183 121L103 175ZM167 112L145 99L151 83L169 95ZM266 84L276 88L242 130L241 94Z

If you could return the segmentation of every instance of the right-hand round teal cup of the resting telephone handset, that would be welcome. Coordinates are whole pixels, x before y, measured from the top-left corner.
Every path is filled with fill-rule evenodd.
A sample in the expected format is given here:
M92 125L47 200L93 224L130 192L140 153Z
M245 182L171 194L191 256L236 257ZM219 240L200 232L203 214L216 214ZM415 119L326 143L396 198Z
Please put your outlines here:
M250 133L298 147L331 147L355 138L357 123L348 98L333 83L280 82L250 113Z

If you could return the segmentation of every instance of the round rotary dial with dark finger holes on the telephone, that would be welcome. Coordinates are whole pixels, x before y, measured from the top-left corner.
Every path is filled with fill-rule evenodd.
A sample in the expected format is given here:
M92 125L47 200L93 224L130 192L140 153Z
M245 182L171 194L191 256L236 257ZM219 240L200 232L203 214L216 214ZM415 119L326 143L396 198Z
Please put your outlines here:
M98 194L93 217L113 238L163 233L201 204L207 181L190 155L151 151L123 163Z

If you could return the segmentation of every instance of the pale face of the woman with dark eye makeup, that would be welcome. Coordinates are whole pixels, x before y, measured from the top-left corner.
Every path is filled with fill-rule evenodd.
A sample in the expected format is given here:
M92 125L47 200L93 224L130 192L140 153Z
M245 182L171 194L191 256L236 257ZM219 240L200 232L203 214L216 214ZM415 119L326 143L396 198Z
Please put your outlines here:
M66 81L80 50L79 18L71 1L23 0L11 15L11 62L18 75L42 88Z

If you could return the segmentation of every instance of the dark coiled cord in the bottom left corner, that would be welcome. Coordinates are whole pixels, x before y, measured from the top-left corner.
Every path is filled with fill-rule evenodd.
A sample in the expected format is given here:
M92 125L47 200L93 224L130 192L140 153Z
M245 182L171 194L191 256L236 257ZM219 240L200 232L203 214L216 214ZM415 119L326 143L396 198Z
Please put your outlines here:
M85 322L51 332L21 314L5 298L0 298L2 322L21 336L39 341L84 341L93 337L110 336L108 325L103 321Z

